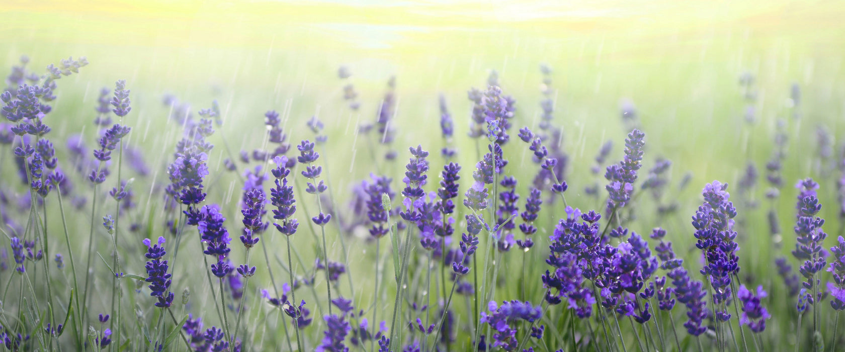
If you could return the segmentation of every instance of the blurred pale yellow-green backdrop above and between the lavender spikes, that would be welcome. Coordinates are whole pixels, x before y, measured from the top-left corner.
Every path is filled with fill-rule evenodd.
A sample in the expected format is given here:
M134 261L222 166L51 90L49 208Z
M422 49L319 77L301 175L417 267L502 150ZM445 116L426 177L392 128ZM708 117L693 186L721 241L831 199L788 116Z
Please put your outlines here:
M161 103L165 94L190 103L193 111L218 100L225 123L212 141L225 137L232 149L261 147L264 111L289 111L285 123L294 144L313 138L305 122L319 116L330 136L324 162L330 164L331 184L343 204L352 183L373 171L368 144L354 131L357 123L374 120L391 76L397 79L399 160L407 156L405 146L422 144L432 151L442 147L437 105L442 93L455 118L459 161L468 182L477 155L473 142L463 137L472 109L466 91L483 88L490 70L496 70L504 92L517 100L515 127L536 127L542 99L539 66L548 63L553 68L554 123L564 128L564 150L570 157L570 205L596 207L593 198L583 197L583 188L595 181L603 184L603 179L589 169L607 140L614 143L609 161L621 158L631 125L623 123L620 106L630 101L636 106L636 125L646 133L644 171L657 156L672 160L668 198L680 201L674 219L660 223L646 208L632 230L646 233L662 225L669 229L669 238L679 242L676 247L684 248L693 242L688 219L700 203L697 194L704 183L718 179L733 184L749 162L760 174L752 198L762 205L742 215L749 225L740 235L745 239L739 255L744 273L759 273L755 282L779 284L771 263L777 255L788 254L794 243L790 224L796 193L791 186L799 178L824 176L820 198L825 204L822 215L829 221L826 230L834 233L839 226L838 171L823 172L835 165L819 161L816 129L831 134L832 160L841 160L842 2L0 1L0 14L0 66L10 68L21 55L31 58L29 68L36 73L63 57L85 56L90 62L79 74L58 81L58 99L46 121L54 131L50 138L62 140L81 132L93 144L95 128L90 122L97 92L112 88L117 79L128 81L133 111L126 122L134 127L130 144L146 150L145 159L153 168L148 179L139 180L144 186L136 186L145 216L161 211L145 203L149 196L144 193L149 192L144 190L154 180L166 181L163 167L171 162L173 144L181 134L181 127L167 119L168 108ZM346 82L337 78L341 65L353 73L351 82L361 102L357 112L342 99ZM756 99L750 103L739 85L742 73L755 75ZM793 84L801 89L797 107L790 100ZM744 119L746 104L755 107L753 123ZM796 113L800 118L793 118ZM771 246L763 198L765 161L774 149L778 120L785 122L789 136L786 187L774 204L784 229L782 248ZM511 172L520 176L519 190L536 170L525 149L517 140L505 149L505 157L516 166ZM212 151L213 171L226 156L223 148ZM441 161L433 157L433 171L440 170ZM401 164L388 169L395 185ZM687 172L692 175L690 187L677 192L677 182ZM235 180L230 176L210 187L210 199L232 199L232 189L237 199L240 185ZM234 226L237 203L224 207ZM553 216L564 216L559 213ZM82 212L79 221L71 221L79 236L88 232L87 216ZM163 228L156 226L154 232ZM546 230L551 226L541 234ZM140 241L123 241L135 240ZM282 248L282 240L267 241ZM311 244L310 237L295 241ZM368 249L363 241L349 245L351 253ZM339 252L339 245L333 251ZM350 257L355 268L371 266L367 260L372 258ZM127 266L141 271L143 263L130 261ZM777 296L782 289L770 290ZM356 295L368 301L362 297L370 294Z

